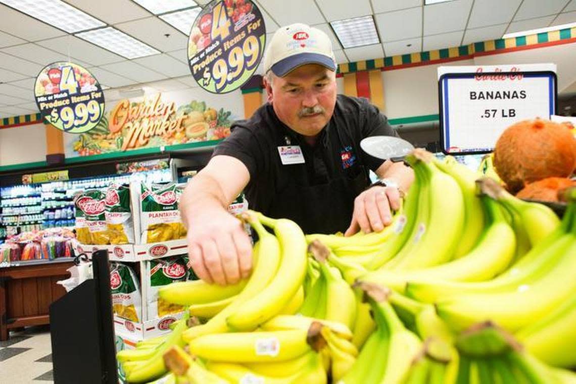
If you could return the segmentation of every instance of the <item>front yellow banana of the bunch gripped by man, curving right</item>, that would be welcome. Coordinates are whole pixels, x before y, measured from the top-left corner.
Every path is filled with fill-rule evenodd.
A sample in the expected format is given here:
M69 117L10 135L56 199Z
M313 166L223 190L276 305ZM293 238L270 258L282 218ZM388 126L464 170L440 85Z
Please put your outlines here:
M306 240L300 227L291 220L274 220L257 214L263 224L274 229L282 249L278 272L260 293L244 302L226 318L232 329L255 329L280 313L298 291L306 275Z

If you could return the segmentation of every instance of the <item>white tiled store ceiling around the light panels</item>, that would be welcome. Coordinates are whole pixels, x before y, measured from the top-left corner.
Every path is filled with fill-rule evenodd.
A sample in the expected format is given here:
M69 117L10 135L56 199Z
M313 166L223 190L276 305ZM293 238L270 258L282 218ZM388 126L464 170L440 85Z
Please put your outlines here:
M184 33L131 0L63 1L161 53L127 60L0 4L0 118L37 112L34 79L41 68L59 60L89 68L101 85L111 88L105 91L107 102L142 84L158 91L196 87L186 64ZM423 0L255 1L264 15L267 37L280 25L314 25L331 37L339 63L454 47L499 39L506 32L576 22L576 0L453 0L427 6ZM196 2L204 5L209 0ZM329 22L367 15L374 16L381 44L343 49Z

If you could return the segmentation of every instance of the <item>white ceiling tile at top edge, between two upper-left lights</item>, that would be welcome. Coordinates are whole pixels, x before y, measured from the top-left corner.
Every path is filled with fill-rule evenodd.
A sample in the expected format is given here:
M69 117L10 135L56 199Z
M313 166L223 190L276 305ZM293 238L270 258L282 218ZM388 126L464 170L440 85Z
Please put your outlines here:
M108 24L150 17L147 10L130 0L66 0L66 2Z

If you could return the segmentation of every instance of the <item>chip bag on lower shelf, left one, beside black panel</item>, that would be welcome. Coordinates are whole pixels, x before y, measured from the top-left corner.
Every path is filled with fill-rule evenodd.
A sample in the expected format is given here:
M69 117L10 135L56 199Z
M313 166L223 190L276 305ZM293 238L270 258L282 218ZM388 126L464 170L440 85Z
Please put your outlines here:
M114 313L130 321L142 321L142 294L132 268L126 264L111 262L110 287Z

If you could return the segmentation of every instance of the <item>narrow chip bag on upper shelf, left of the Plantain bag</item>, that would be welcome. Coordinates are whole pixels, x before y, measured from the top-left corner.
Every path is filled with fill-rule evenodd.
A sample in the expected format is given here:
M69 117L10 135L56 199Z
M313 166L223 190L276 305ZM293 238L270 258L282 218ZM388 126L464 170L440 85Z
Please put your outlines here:
M134 244L130 187L112 184L106 191L106 228L110 244Z

